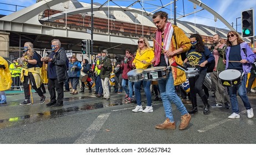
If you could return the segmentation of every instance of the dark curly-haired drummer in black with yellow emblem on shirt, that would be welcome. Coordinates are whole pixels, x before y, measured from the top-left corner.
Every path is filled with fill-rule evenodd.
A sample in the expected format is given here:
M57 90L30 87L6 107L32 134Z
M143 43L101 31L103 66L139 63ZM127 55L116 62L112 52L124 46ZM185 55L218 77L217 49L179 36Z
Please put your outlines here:
M208 104L207 95L204 93L203 80L207 74L207 63L211 63L214 60L214 56L211 51L203 44L203 39L199 34L192 34L190 36L190 41L192 47L187 51L187 58L184 60L184 63L189 62L196 66L198 69L198 74L194 77L189 77L188 81L190 82L190 95L192 102L192 110L188 111L188 113L196 113L197 112L197 97L198 94L204 104L203 114L208 115L210 111L210 105ZM208 58L208 59L207 59Z

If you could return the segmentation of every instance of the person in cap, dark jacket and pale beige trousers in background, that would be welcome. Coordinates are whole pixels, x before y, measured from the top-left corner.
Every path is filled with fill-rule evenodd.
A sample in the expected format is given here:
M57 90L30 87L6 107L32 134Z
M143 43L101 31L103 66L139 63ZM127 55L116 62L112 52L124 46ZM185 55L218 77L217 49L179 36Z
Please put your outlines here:
M101 51L101 61L98 65L98 69L100 69L100 78L101 84L103 86L103 99L110 99L110 91L109 91L109 80L110 74L112 72L112 63L108 56L107 50Z

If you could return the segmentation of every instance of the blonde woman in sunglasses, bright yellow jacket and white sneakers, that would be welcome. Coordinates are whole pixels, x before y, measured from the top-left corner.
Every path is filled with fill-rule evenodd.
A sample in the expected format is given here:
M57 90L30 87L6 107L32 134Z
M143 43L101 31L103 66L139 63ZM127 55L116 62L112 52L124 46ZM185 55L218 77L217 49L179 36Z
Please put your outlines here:
M153 49L150 48L149 41L145 37L141 37L138 41L138 49L135 56L134 61L132 62L132 66L135 66L136 69L147 69L151 65L151 61L154 58L154 52ZM144 92L147 98L147 106L143 110L141 106L141 94L140 94L140 88L143 84ZM134 92L135 92L135 98L137 101L137 106L133 112L153 112L153 107L151 106L152 100L151 100L151 92L150 92L150 85L151 81L138 81L134 82Z

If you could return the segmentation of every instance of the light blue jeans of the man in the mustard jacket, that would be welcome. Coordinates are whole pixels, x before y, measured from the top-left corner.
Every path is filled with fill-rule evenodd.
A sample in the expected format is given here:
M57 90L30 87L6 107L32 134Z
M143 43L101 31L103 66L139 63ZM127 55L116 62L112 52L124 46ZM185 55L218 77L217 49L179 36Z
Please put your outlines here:
M170 119L170 122L174 122L171 102L177 106L178 110L181 112L181 115L188 113L186 107L182 104L180 97L178 97L176 94L173 82L171 71L168 73L166 79L158 80L160 95L163 101L163 108L165 109L165 115Z

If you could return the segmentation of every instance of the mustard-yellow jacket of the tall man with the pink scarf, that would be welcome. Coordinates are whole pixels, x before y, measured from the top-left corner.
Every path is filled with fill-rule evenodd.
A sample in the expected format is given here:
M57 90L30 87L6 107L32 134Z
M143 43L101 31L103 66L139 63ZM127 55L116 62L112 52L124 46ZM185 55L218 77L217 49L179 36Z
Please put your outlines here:
M173 35L172 35L172 45L169 50L174 51L177 48L183 48L183 52L186 52L191 48L190 39L185 35L182 29L178 28L176 25L172 25L173 27ZM175 34L175 35L174 35ZM175 38L174 38L175 37ZM175 42L176 39L176 42ZM181 59L181 54L175 55L173 57L169 57L169 63L171 64L173 61L182 65L183 61ZM174 80L174 85L180 85L186 81L185 71L172 67L172 75Z

